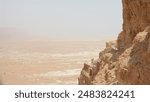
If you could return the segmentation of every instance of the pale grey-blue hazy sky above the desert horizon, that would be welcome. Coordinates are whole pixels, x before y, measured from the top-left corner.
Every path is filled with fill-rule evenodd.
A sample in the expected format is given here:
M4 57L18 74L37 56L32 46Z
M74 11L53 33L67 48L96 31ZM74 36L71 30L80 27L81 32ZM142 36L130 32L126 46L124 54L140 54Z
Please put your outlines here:
M99 40L122 29L121 0L0 0L0 37Z

